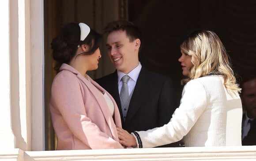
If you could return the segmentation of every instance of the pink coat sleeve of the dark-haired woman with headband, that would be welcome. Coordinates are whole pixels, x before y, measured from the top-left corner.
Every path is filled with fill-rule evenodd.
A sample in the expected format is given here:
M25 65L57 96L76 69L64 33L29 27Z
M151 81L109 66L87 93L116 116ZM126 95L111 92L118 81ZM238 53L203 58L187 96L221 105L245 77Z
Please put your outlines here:
M82 88L73 73L63 73L55 78L52 85L52 102L53 108L56 108L59 114L54 115L54 117L61 117L60 119L64 120L63 123L59 122L59 128L62 128L61 126L68 126L72 134L91 149L123 148L118 141L115 141L109 135L102 132L87 117ZM85 101L93 100L86 99ZM95 104L95 102L91 103ZM65 132L62 135L65 135Z

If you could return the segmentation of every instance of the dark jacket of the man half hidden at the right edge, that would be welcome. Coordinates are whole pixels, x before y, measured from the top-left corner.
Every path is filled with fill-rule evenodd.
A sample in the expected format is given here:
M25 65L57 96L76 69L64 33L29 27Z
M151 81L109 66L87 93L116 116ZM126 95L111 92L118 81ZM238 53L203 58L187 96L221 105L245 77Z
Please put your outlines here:
M254 123L251 125L251 128L247 134L247 136L245 136L245 138L242 140L242 145L256 145L256 123L255 123L255 119L254 119ZM245 113L243 114L243 119L242 119L242 126L245 122ZM243 127L242 127L243 130ZM242 131L243 133L243 131Z

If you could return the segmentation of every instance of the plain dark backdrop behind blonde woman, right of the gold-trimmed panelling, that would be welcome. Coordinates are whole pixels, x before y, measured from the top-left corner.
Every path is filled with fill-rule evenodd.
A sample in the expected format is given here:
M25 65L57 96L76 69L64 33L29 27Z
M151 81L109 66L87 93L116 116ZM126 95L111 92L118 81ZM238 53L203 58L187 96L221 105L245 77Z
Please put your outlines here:
M142 29L140 62L173 78L177 99L182 78L179 41L191 29L214 31L234 73L256 68L255 0L128 0L128 19Z

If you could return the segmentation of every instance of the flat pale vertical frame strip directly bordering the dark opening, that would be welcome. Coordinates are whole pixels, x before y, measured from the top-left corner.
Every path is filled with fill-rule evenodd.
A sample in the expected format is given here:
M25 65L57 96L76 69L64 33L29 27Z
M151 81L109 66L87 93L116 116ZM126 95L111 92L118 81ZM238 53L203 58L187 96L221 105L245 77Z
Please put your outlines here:
M31 150L45 150L43 0L30 0Z

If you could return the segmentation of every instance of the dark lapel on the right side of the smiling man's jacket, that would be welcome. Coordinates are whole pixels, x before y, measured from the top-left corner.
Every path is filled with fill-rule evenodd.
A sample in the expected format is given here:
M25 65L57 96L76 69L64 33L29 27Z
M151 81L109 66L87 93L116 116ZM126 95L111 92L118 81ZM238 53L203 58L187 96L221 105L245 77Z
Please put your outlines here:
M151 81L149 74L150 73L147 70L145 70L143 67L141 68L132 98L130 100L125 122L129 122L132 119L132 117L146 101L147 95L150 93L149 91L151 91L153 88L154 82Z

